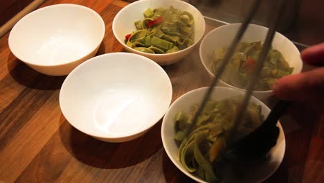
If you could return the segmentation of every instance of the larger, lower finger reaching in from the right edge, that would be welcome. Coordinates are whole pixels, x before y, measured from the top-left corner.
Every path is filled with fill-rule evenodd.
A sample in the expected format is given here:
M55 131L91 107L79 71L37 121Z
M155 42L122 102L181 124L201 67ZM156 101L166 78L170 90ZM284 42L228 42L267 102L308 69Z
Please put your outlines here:
M308 103L315 102L316 98L321 101L324 98L324 68L280 78L273 86L273 93L288 101Z

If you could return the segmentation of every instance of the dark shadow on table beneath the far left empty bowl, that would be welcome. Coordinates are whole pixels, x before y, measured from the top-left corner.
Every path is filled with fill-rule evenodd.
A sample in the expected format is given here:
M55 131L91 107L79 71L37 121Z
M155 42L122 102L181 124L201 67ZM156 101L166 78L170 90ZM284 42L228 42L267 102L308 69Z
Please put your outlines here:
M47 76L28 67L10 53L7 59L10 76L21 85L39 90L60 89L66 76Z

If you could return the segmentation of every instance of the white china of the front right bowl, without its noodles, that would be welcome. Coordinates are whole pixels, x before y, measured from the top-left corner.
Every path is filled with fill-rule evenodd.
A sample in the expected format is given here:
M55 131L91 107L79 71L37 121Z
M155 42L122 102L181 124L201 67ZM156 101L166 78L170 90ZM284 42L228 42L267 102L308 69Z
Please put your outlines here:
M203 87L192 90L191 92L183 94L183 96L179 97L177 101L174 101L174 103L169 107L169 110L165 113L161 127L162 142L165 152L180 171L197 182L204 182L204 180L201 180L199 177L195 177L189 173L186 168L183 168L181 162L179 162L179 159L177 158L179 148L177 143L174 141L174 116L177 112L189 112L190 106L193 104L200 104L204 94L207 92L207 89L208 87ZM220 101L238 95L244 95L244 92L229 87L215 87L211 98L215 101ZM264 116L269 114L270 109L264 105L264 103L255 97L251 97L251 101L262 106L262 114ZM283 133L279 122L277 126L280 128L280 134L276 146L269 152L269 160L251 172L251 174L246 175L244 180L235 180L233 177L224 177L223 182L262 182L277 170L285 155L286 146L285 134Z

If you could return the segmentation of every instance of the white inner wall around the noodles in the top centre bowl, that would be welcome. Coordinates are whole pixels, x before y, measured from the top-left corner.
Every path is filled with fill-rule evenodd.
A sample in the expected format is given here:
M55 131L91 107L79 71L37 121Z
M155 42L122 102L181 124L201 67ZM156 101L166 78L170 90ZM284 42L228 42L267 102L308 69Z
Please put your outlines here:
M186 10L192 14L195 19L195 42L200 40L202 35L204 35L204 17L202 17L201 13L194 6L178 0L141 0L129 4L123 10L120 10L114 19L113 29L116 38L121 44L125 45L125 35L136 30L134 22L144 19L143 12L147 8L153 10L154 8L169 8L170 6L174 6L174 8L179 10Z

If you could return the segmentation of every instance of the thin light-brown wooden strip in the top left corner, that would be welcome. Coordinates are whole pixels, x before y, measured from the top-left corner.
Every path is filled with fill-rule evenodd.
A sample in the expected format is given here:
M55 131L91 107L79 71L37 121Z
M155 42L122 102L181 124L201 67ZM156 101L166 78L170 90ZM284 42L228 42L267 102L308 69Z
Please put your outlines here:
M44 3L45 0L34 0L32 3L30 3L28 6L26 6L23 10L17 13L15 17L12 17L9 21L6 22L6 24L3 24L3 26L0 27L0 38L8 33L8 31L15 26L17 21L27 15L28 13L35 10L37 7L39 7L42 3Z

